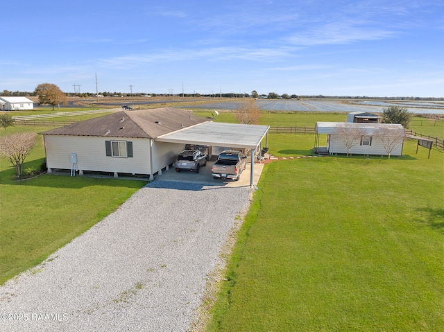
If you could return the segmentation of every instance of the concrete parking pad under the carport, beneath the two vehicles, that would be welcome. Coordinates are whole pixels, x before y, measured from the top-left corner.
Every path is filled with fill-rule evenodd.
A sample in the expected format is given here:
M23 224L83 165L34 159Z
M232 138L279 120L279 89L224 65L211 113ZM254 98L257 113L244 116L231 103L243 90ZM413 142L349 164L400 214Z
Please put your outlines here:
M155 180L168 181L168 182L187 182L194 184L207 184L214 186L228 186L228 187L241 187L250 186L250 170L251 164L247 163L244 172L241 174L239 181L233 181L230 179L213 179L211 175L211 166L214 161L207 161L207 166L200 167L199 173L180 171L176 172L174 167L170 167L168 171L163 171L162 175L156 175ZM254 182L257 186L259 177L261 176L264 164L255 164Z

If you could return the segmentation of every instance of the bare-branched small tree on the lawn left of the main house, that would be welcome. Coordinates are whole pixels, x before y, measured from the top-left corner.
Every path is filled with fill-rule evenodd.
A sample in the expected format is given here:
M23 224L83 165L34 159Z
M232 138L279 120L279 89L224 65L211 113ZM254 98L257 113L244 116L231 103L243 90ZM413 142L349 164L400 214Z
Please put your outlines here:
M35 132L19 132L0 137L0 157L14 166L17 176L22 176L23 164L31 152L37 134Z

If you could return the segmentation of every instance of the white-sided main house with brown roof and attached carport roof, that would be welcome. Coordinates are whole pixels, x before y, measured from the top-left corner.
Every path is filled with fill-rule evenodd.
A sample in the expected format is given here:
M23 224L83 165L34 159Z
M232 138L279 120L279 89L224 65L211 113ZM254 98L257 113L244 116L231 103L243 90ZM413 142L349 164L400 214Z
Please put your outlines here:
M259 150L268 126L213 123L172 108L122 110L43 132L53 169L148 175L169 169L187 144ZM253 157L252 157L253 159Z

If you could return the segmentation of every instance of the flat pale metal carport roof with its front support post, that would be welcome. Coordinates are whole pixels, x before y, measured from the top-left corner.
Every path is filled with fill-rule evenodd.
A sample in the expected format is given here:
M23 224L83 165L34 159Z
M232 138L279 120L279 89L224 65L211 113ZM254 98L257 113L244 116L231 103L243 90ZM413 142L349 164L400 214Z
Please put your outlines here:
M155 141L196 144L205 146L229 146L251 150L250 186L254 184L255 153L265 137L268 146L268 125L243 125L239 123L206 122L156 137Z

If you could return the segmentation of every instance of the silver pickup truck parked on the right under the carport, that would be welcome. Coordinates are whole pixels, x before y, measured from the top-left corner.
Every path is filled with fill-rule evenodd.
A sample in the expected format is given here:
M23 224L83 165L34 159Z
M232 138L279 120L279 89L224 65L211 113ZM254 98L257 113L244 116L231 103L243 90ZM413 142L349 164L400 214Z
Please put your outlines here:
M246 158L241 151L223 151L211 168L214 179L222 177L239 180L246 168Z

